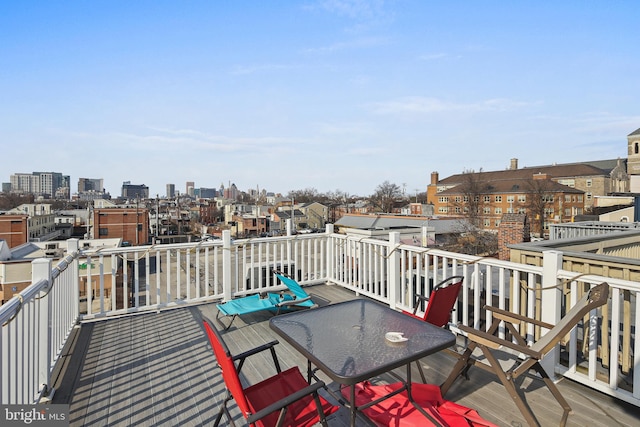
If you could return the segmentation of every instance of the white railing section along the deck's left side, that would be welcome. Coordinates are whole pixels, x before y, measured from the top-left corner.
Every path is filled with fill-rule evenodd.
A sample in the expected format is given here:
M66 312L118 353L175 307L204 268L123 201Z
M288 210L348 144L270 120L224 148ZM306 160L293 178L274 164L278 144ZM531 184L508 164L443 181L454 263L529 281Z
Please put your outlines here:
M75 242L75 247L74 247ZM33 284L0 307L0 404L36 403L78 322L77 240L52 267L32 262Z

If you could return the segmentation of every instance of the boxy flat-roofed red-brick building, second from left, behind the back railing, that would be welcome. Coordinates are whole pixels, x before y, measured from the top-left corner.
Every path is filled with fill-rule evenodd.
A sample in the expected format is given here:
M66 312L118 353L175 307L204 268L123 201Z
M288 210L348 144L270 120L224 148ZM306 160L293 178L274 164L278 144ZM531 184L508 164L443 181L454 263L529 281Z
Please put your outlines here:
M130 245L149 243L149 211L146 208L104 208L93 211L95 239L120 238Z

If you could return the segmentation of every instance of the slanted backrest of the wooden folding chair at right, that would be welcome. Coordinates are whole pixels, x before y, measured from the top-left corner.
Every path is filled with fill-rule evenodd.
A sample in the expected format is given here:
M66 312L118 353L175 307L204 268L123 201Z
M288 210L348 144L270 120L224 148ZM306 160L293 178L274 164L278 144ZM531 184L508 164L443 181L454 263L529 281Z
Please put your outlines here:
M591 310L604 305L609 299L609 284L606 282L594 286L564 315L562 319L547 331L531 349L546 354Z

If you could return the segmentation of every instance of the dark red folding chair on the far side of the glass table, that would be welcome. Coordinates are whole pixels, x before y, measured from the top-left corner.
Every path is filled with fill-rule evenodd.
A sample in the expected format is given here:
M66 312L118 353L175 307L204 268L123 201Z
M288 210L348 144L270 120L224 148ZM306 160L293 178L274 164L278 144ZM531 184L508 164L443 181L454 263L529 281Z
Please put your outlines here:
M429 322L439 328L448 325L451 320L453 305L458 299L458 294L460 293L463 280L464 276L451 276L438 283L428 297L416 294L416 300L413 304L413 312L404 311L404 313L417 319L424 320L425 322ZM422 302L427 303L427 308L424 310L424 314L422 316L418 316L418 308L420 308ZM422 365L419 360L416 361L416 365L418 366L422 382L426 383L427 381L424 376L424 371L422 370Z

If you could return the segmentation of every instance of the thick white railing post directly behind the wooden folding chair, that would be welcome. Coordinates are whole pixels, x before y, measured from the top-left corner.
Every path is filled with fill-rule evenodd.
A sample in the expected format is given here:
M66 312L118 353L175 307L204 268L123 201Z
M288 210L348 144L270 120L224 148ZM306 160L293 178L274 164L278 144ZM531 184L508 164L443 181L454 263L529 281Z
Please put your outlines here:
M562 252L542 253L542 288L540 293L540 320L555 325L561 318L562 288L558 286L558 271L562 269ZM543 333L546 332L543 330ZM555 366L560 361L558 346L542 359L540 364L551 379L555 378Z

